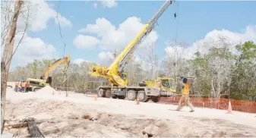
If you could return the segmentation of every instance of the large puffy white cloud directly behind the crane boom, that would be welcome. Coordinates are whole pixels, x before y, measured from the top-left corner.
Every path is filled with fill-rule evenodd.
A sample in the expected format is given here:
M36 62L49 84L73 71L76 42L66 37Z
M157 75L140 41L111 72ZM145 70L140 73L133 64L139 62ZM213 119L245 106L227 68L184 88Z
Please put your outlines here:
M123 49L132 39L141 31L144 24L141 18L128 17L119 27L111 24L106 18L97 18L95 24L87 24L87 27L79 30L80 33L94 33L100 39L99 45L101 49L114 50ZM152 31L139 47L151 45L158 39L156 31Z

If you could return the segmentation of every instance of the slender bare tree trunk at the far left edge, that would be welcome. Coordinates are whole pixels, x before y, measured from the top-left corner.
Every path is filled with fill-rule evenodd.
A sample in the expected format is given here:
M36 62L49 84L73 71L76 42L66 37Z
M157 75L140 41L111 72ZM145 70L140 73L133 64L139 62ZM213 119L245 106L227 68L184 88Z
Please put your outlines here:
M5 99L6 99L8 71L11 64L11 55L13 54L12 52L14 48L14 36L15 36L16 27L17 27L17 17L19 16L22 4L23 4L23 1L15 2L14 16L12 18L10 31L8 33L8 37L5 42L5 50L3 52L2 60L1 60L1 133L4 131L4 127L5 127L4 117L5 117Z

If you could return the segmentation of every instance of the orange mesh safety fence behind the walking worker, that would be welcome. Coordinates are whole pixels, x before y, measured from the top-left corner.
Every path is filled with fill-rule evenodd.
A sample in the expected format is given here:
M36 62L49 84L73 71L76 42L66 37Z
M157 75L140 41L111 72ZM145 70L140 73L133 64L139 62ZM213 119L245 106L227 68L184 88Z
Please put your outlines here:
M160 100L160 103L178 105L180 98L181 97L169 97L169 98L163 97ZM256 102L236 100L236 99L223 99L223 98L220 98L220 99L190 98L190 102L195 107L216 108L221 110L226 110L228 108L229 101L231 102L233 111L256 113Z

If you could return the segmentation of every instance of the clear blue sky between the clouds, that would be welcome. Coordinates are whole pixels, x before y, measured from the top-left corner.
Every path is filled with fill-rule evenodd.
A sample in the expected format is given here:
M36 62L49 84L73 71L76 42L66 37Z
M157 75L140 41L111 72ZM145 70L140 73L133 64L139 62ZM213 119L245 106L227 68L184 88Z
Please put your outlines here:
M97 57L102 49L77 49L73 44L78 30L95 24L99 17L107 20L119 27L128 17L139 17L142 23L147 23L155 12L163 5L163 1L142 1L124 2L118 1L118 5L113 8L103 8L99 2L97 9L93 7L95 2L83 1L62 1L47 2L55 11L58 5L58 12L66 17L73 24L72 27L62 27L62 36L66 45L66 52L71 54L71 60L84 58L87 61L99 61ZM156 25L156 32L159 35L157 41L156 54L164 57L166 41L175 37L175 30L178 27L178 42L186 42L191 45L198 39L204 39L207 33L213 30L229 30L241 33L248 25L256 24L256 2L179 2L179 14L175 20L173 14L178 13L177 3L169 6ZM177 23L178 22L178 23ZM84 35L96 36L89 33ZM46 30L39 32L28 32L28 36L40 38L47 44L54 45L58 55L63 55L63 43L59 35L58 26L54 20L49 20ZM124 46L124 45L122 45Z

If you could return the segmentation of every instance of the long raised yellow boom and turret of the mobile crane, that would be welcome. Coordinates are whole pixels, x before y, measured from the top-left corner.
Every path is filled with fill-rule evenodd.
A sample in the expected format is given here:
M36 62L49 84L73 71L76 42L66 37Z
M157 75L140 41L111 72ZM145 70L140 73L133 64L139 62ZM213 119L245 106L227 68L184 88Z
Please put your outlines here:
M166 11L169 5L172 4L172 1L166 1L159 11L151 18L151 20L144 25L140 33L137 34L135 39L133 39L125 49L119 54L115 61L106 68L106 67L94 67L93 73L94 77L105 77L112 83L114 86L127 86L128 80L126 74L124 74L125 65L128 64L131 56L134 54L135 49L141 42L149 35L149 33L155 27L156 20ZM93 75L92 75L93 76Z

